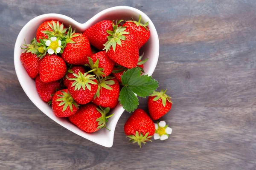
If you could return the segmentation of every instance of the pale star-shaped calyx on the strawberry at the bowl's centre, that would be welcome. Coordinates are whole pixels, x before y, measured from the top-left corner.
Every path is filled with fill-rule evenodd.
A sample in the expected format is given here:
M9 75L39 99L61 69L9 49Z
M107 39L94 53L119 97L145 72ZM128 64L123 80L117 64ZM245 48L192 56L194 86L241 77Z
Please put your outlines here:
M75 90L79 91L81 88L83 88L83 90L85 90L85 87L90 91L91 90L91 85L96 85L97 83L94 82L93 80L96 79L96 77L94 77L94 75L91 74L87 74L84 73L82 74L81 72L79 72L79 74L74 74L73 75L76 78L71 78L69 80L74 80L75 82L72 83L72 87L75 86Z

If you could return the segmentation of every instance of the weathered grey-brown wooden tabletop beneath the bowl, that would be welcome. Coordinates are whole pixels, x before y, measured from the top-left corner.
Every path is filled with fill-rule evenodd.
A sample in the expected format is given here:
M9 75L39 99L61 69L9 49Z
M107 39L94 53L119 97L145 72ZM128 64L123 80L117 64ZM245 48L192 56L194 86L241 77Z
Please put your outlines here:
M13 64L20 29L45 13L86 22L112 6L144 11L160 38L153 77L174 105L167 141L128 144L124 113L106 148L53 122L23 92ZM0 0L0 169L255 170L255 0ZM140 100L146 109L147 99Z

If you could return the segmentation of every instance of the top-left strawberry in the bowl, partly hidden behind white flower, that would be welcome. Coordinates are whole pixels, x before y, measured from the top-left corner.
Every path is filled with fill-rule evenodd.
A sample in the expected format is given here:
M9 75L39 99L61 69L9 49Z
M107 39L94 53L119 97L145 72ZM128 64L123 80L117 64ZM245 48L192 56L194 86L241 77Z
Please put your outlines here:
M52 37L65 37L67 28L57 20L49 20L42 23L36 31L36 40L40 42L39 39L48 39L48 36Z

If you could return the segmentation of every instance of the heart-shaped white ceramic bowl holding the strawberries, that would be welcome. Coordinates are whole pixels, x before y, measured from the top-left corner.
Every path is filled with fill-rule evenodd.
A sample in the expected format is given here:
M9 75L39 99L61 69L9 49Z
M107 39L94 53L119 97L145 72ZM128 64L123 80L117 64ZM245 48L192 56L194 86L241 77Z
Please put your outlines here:
M26 73L25 69L23 68L22 63L20 62L20 53L22 50L20 46L24 43L24 39L26 42L32 40L35 37L36 30L38 26L46 20L59 20L64 23L65 26L71 25L73 28L76 28L77 32L84 32L93 24L102 21L102 20L131 20L131 17L138 20L139 15L142 17L142 23L149 22L148 28L150 30L150 38L148 42L140 49L140 53L145 52L144 58L149 58L148 61L144 64L145 74L152 75L154 69L157 65L157 60L159 56L159 40L156 28L154 24L149 19L149 17L144 14L142 11L128 7L128 6L116 6L112 8L105 9L104 11L99 12L86 23L78 23L70 17L61 14L43 14L34 19L30 20L20 31L20 34L17 37L15 48L14 48L14 65L17 77L19 79L20 85L25 91L26 95L29 99L49 118L60 124L61 126L67 128L68 130L72 131L73 133L78 134L79 136L84 137L92 142L100 144L105 147L112 147L113 145L113 138L114 138L114 131L116 128L116 124L120 116L122 115L124 109L122 105L117 105L111 113L114 114L109 119L108 128L102 129L97 131L96 133L86 133L80 130L78 127L70 123L66 118L58 118L56 117L53 112L52 108L47 105L41 98L38 96L38 93L35 88L35 80L31 79L29 75Z

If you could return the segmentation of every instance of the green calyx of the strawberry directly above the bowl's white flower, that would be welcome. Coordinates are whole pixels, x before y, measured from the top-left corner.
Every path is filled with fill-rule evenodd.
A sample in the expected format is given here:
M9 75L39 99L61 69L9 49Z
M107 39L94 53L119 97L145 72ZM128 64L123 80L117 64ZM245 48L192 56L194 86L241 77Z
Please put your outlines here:
M67 28L64 28L64 25L57 21L55 23L52 21L52 23L48 23L49 27L52 28L52 31L42 31L42 33L47 34L48 37L60 37L64 38L66 36Z

